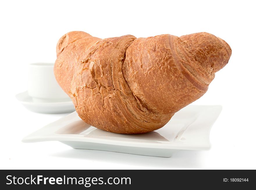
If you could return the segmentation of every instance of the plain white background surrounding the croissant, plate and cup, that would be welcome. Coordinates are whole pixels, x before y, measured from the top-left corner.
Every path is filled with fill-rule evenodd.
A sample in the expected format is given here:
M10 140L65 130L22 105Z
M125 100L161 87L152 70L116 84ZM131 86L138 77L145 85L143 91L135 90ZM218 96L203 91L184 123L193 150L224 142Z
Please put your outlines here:
M256 169L255 1L6 1L0 4L0 169ZM208 92L193 104L222 105L208 151L170 158L75 150L60 142L21 139L65 114L26 110L15 94L27 89L27 65L54 62L69 31L106 38L131 34L208 32L232 48Z

